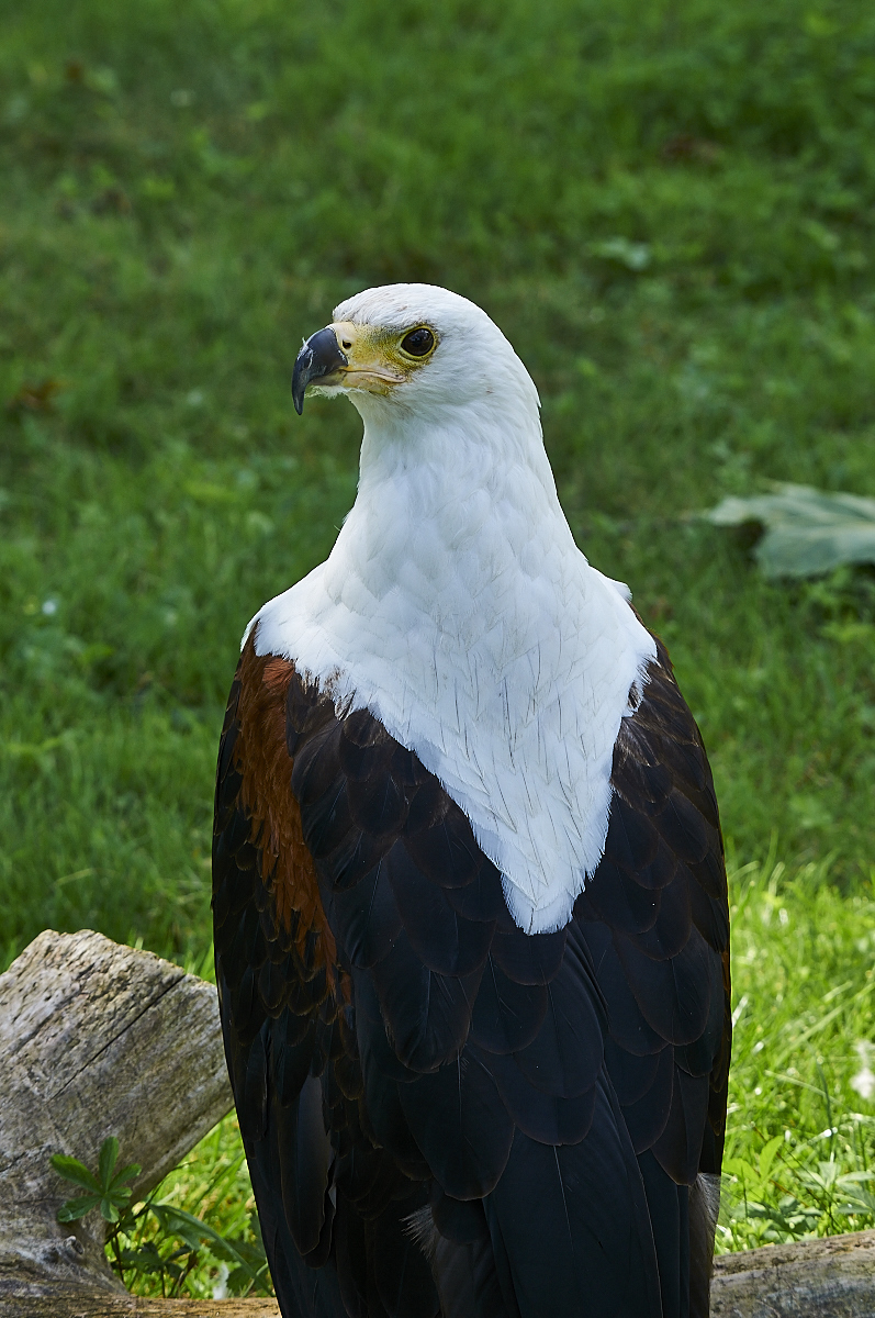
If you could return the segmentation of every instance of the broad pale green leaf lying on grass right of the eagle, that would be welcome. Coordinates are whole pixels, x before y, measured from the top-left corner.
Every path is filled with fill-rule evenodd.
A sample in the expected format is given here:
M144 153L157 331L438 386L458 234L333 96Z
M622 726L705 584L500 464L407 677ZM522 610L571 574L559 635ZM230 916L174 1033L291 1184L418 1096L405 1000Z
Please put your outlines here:
M875 500L776 485L774 494L725 498L704 514L714 526L756 522L754 554L766 576L818 576L842 563L875 563Z

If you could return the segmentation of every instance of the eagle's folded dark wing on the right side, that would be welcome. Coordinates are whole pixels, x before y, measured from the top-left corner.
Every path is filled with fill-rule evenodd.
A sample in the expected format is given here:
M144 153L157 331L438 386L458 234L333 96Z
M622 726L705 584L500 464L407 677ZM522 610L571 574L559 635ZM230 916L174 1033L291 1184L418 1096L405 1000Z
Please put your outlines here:
M689 1186L700 1172L720 1173L731 1017L714 786L662 643L640 705L621 728L611 782L605 857L575 913L607 1002L607 1070L648 1185L656 1248L671 1257L688 1231L687 1209L665 1201L658 1169ZM693 1211L706 1210L701 1193L691 1202ZM696 1249L702 1232L705 1257ZM696 1315L708 1314L713 1234L713 1218L693 1223ZM667 1311L676 1311L676 1289L684 1313L684 1277L672 1296L665 1265L660 1277Z

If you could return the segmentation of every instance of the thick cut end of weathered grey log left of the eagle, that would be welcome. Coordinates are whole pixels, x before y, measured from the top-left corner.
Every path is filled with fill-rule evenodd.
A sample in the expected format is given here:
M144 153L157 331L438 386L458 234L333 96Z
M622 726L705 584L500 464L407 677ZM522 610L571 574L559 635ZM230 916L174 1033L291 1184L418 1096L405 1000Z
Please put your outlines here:
M216 990L150 952L41 933L0 975L0 1313L63 1288L125 1294L104 1223L55 1218L76 1189L53 1153L96 1168L116 1135L142 1197L233 1106ZM61 1313L59 1307L43 1311Z

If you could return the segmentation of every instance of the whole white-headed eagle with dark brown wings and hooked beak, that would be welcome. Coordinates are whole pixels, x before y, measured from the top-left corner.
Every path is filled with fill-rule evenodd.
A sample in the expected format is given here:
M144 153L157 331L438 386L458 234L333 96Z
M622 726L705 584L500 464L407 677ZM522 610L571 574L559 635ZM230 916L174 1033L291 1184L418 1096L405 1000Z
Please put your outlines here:
M225 1054L285 1318L706 1318L730 1056L717 801L480 307L369 289L293 398L364 420L249 623L216 774Z

